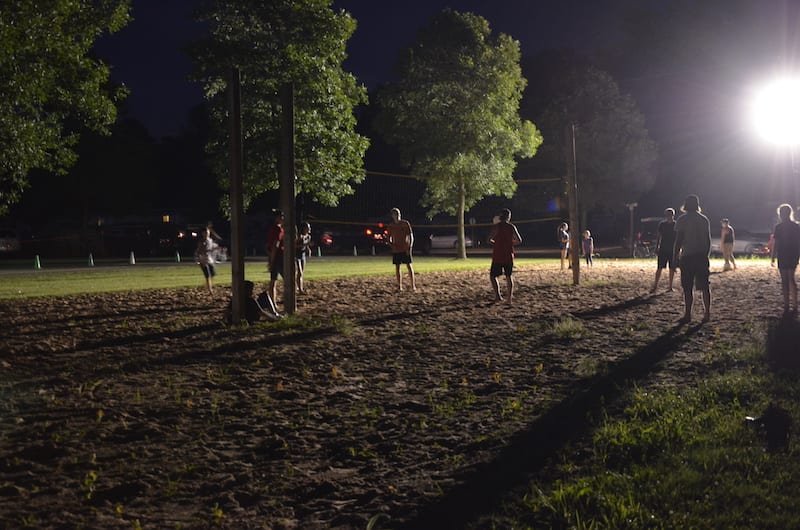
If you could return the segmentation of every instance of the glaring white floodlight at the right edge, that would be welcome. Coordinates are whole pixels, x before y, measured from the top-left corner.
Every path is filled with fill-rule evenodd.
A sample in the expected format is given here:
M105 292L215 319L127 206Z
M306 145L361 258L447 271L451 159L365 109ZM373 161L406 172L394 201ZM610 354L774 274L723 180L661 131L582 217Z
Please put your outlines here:
M800 80L768 85L753 108L756 130L770 142L800 145Z

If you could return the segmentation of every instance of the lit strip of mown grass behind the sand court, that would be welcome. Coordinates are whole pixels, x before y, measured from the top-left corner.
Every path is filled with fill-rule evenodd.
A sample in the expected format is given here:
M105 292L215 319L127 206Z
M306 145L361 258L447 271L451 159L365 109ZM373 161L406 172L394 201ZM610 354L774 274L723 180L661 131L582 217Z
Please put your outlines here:
M519 259L518 266L543 263L542 259ZM414 258L414 270L419 273L435 271L483 270L489 267L490 258L480 256L467 260L447 257L421 256ZM197 265L191 262L173 263L167 260L137 261L136 265L125 262L95 260L89 267L83 260L59 260L41 263L36 270L33 264L22 261L4 263L0 299L38 296L64 296L113 291L139 291L145 289L172 289L200 287L203 276ZM17 265L19 268L11 268ZM403 271L405 273L405 270ZM333 256L313 257L309 260L305 278L307 280L342 278L349 276L392 275L394 267L389 256ZM266 263L246 261L245 277L253 281L268 279ZM217 265L215 285L231 284L231 265Z

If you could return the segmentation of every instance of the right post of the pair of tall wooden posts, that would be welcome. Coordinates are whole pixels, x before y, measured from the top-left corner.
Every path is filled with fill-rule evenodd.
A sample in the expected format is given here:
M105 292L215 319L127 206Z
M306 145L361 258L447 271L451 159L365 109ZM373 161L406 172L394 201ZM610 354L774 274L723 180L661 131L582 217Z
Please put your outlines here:
M295 275L297 261L295 239L297 219L295 215L294 174L294 85L281 89L281 150L279 162L280 203L283 220L283 308L290 315L297 311Z

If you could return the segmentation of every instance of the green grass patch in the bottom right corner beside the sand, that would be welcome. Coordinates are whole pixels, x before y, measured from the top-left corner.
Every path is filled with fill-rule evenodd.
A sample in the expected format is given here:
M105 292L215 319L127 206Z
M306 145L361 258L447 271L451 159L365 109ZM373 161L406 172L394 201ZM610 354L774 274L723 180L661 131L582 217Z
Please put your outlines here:
M800 528L795 444L768 450L745 417L800 413L800 383L767 368L765 347L728 344L700 384L633 387L589 447L496 516L514 528ZM695 379L692 379L695 381ZM581 455L575 458L575 455ZM587 456L588 455L588 456Z

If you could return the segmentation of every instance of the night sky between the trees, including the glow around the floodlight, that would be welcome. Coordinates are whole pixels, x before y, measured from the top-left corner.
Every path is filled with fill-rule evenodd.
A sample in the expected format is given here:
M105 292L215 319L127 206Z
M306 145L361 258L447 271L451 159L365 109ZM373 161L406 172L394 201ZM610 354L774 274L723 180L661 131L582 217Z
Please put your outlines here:
M534 55L554 47L602 49L619 37L619 12L610 8L618 4L613 0L336 0L333 5L358 21L344 67L374 88L391 79L399 50L411 44L418 29L444 7L485 17L494 32L520 41L523 55ZM195 5L192 0L137 0L135 20L98 47L100 56L113 66L114 80L131 89L126 103L130 114L156 138L179 134L188 110L202 101L201 87L187 81L191 62L181 52L187 42L203 34L203 27L190 18ZM753 138L744 116L753 85L794 61L797 38L787 28L797 21L798 13L790 8L790 0L752 5L758 16L751 34L737 35L739 42L723 43L718 62L696 71L632 71L618 79L622 89L637 98L660 146L660 171L670 175L659 178L653 193L642 198L642 209L649 209L642 215L658 215L667 205L680 206L687 193L695 192L710 216L746 218L761 228L772 221L773 203L781 193L800 189L786 176L785 153ZM719 27L726 22L724 16L719 14ZM717 29L709 27L709 35ZM636 50L630 52L635 56ZM754 195L764 190L771 194Z

